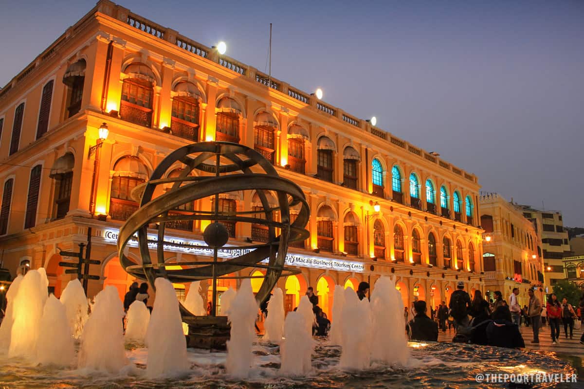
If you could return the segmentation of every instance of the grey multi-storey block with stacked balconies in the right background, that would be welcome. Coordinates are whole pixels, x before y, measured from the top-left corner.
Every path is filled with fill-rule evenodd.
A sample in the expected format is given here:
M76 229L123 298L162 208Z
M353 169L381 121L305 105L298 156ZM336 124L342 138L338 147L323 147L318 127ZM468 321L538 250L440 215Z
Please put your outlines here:
M543 250L545 283L554 286L554 283L565 279L564 257L572 256L568 241L568 233L564 230L562 213L558 211L540 211L529 205L518 205L517 209L523 212L523 216L531 220L536 226L537 233L541 236L541 248Z

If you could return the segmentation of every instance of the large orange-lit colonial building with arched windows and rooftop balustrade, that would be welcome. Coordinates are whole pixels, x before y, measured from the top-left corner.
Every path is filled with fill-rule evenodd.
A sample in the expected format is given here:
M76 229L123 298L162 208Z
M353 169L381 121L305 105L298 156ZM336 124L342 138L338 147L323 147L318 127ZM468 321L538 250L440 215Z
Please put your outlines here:
M313 286L330 313L335 284L356 289L381 275L397 279L405 304L436 306L458 281L484 289L476 176L107 0L0 91L0 128L4 267L13 275L46 268L57 296L75 276L58 265L67 259L60 250L86 243L89 227L91 257L100 261L90 268L99 280L89 281L89 296L106 285L123 296L134 279L120 266L116 239L138 208L133 188L172 150L215 140L255 148L306 194L311 236L290 247L288 260L301 274L278 283L287 310ZM204 198L174 212L211 204ZM262 204L230 192L219 207ZM267 239L263 226L225 225L239 244ZM166 231L189 246L201 243L204 227L184 221ZM209 260L185 246L165 250L169 261ZM137 260L137 249L130 255ZM218 292L228 286L236 281L220 281ZM175 285L179 296L188 287Z

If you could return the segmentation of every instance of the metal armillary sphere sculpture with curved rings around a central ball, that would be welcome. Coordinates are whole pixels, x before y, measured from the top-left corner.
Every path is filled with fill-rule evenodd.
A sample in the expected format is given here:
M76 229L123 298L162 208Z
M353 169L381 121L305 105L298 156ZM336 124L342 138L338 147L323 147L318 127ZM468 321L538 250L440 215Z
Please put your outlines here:
M179 177L169 173L182 163ZM172 187L168 191L159 188ZM157 190L158 188L158 190ZM260 211L225 211L219 207L220 194L256 191L262 203ZM269 204L267 194L274 192L277 204ZM213 280L212 315L215 316L218 278L249 278L228 276L244 268L264 268L266 275L256 294L262 302L276 285L280 276L297 274L296 269L284 268L288 244L308 238L305 229L310 210L303 191L297 184L278 176L276 169L254 149L230 142L201 142L183 146L169 154L152 173L150 180L133 192L139 198L140 208L121 227L117 248L120 263L136 278L147 280L164 277L171 282ZM185 211L184 207L198 199L211 198L211 209ZM180 208L183 206L182 208ZM300 208L290 223L290 207ZM173 212L180 208L180 212ZM279 220L276 218L279 213ZM208 223L203 232L206 244L193 246L177 240L165 240L167 223L201 220ZM259 244L227 245L228 230L221 222L253 223L267 226L267 242ZM157 234L148 234L148 225L158 225ZM279 235L276 235L279 229ZM128 244L137 240L142 263L138 264L124 254ZM201 242L202 243L202 242ZM165 262L164 248L175 247L213 255L212 261ZM151 250L155 250L154 258ZM218 253L221 250L221 256ZM227 253L227 254L226 254ZM226 254L226 255L225 255ZM267 263L266 263L267 262ZM167 269L180 265L183 269ZM284 274L283 274L284 272ZM183 314L187 311L182 307Z

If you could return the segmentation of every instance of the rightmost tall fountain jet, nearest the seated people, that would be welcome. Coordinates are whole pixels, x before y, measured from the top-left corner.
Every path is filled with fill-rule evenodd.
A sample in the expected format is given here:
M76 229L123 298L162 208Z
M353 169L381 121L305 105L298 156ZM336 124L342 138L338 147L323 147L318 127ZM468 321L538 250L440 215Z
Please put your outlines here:
M409 359L408 341L404 331L387 331L387 324L396 328L405 328L404 303L395 281L382 276L375 283L371 293L371 336L375 341L371 345L371 358L390 365L405 366Z

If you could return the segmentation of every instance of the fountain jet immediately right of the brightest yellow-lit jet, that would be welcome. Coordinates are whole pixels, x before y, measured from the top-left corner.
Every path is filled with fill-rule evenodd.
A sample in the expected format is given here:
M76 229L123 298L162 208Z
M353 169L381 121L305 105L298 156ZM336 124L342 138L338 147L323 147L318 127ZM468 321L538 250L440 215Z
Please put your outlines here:
M42 365L69 366L75 358L75 345L65 306L53 294L44 304L40 320L42 334L37 339L36 362Z

